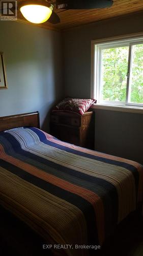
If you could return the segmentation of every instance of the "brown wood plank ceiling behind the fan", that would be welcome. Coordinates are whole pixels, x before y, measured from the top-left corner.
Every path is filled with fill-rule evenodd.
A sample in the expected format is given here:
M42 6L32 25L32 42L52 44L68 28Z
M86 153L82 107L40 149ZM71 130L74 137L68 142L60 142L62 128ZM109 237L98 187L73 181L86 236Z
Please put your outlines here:
M18 0L20 2L22 0ZM78 1L78 0L77 0ZM88 1L88 0L87 0ZM100 1L100 0L99 0ZM61 19L60 24L51 25L45 22L41 27L52 30L68 30L70 28L97 22L98 20L108 19L134 12L143 11L143 0L113 0L113 5L105 9L91 10L56 10L54 11ZM19 21L25 21L21 13L18 11Z

